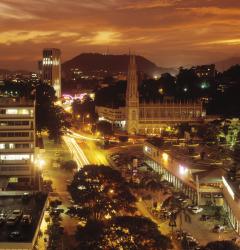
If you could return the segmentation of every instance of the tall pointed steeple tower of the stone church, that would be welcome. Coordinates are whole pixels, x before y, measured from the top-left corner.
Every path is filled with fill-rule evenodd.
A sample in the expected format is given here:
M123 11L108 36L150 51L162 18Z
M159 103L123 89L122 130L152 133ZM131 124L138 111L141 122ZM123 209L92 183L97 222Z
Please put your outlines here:
M126 92L126 122L129 134L138 133L139 93L137 66L134 55L130 55Z

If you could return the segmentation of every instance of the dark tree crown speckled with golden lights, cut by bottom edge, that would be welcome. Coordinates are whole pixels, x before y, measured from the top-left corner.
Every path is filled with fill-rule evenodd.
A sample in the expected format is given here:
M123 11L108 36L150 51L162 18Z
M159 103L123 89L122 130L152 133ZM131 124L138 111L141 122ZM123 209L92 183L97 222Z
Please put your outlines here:
M168 237L157 225L141 216L118 216L106 223L90 222L77 231L78 249L167 250ZM87 245L87 246L86 246ZM88 247L88 248L87 248Z

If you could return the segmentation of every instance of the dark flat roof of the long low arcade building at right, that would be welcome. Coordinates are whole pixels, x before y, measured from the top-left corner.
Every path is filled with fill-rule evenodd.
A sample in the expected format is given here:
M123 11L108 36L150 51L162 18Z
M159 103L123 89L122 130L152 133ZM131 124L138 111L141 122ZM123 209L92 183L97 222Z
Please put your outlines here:
M152 138L146 142L167 153L178 164L186 166L193 180L197 175L200 183L222 182L226 169L232 165L227 151L216 145L189 143L186 140L164 141L161 138Z

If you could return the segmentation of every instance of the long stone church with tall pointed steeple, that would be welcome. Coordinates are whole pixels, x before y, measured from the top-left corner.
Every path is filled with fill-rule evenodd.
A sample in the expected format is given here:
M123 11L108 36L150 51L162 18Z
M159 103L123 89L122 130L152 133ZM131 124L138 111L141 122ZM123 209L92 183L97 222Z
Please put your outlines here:
M99 120L109 121L128 134L145 135L159 135L164 128L181 123L198 124L206 116L201 101L176 101L166 97L162 102L140 102L134 55L130 55L125 107L97 106L96 112Z

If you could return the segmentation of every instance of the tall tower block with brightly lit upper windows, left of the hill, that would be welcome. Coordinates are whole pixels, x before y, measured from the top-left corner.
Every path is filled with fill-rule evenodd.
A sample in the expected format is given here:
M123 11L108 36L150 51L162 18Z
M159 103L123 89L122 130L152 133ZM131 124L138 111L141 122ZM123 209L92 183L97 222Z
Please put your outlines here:
M44 49L42 60L42 81L53 86L56 96L61 97L61 51Z

